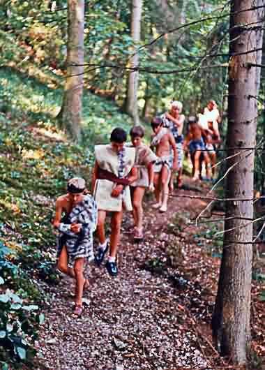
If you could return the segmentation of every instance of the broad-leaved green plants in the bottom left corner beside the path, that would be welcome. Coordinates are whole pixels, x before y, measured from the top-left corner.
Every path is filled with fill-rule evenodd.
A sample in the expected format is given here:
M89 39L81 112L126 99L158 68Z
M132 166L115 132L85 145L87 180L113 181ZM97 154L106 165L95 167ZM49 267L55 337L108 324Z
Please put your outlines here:
M0 361L4 363L30 360L35 327L40 321L38 306L30 304L40 299L40 293L13 262L15 256L13 249L0 242ZM24 283L26 290L22 288ZM17 289L7 288L14 285Z

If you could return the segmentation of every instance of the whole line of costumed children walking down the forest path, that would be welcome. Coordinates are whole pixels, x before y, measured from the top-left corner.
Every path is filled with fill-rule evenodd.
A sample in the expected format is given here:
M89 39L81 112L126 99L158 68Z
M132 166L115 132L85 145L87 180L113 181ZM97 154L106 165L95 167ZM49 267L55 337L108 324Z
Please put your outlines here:
M217 116L217 112L214 112L215 115L211 113L217 110L215 103L211 101L206 109L209 112L204 112L205 121L202 117L199 121L195 117L190 117L185 140L183 137L185 117L181 114L182 104L179 101L172 103L169 112L151 120L153 129L151 147L142 142L144 137L142 126L134 126L130 130L130 145L126 143L126 131L115 128L110 135L110 144L95 147L93 196L86 190L84 179L74 177L68 181L67 193L57 198L54 218L54 226L59 230L57 267L75 279L74 317L82 314L83 290L89 285L84 278L84 260L94 260L96 265L100 266L109 251L105 264L107 272L111 276L118 273L116 255L123 210L132 211L135 223L134 238L142 239L144 192L146 188L151 192L155 191L156 203L153 207L160 212L167 211L169 191L173 191L174 186L173 172L176 170L178 187L182 186L183 149L185 150L188 145L193 163L193 179L199 178L202 154L206 163L206 176L209 176L207 151L214 151L213 143L220 142L220 135L219 114ZM214 121L207 121L213 118ZM209 124L209 127L206 127L206 124ZM152 149L155 149L156 153ZM105 235L107 212L111 212L109 238ZM96 256L93 255L95 230L100 242ZM73 267L69 267L69 262L73 263Z

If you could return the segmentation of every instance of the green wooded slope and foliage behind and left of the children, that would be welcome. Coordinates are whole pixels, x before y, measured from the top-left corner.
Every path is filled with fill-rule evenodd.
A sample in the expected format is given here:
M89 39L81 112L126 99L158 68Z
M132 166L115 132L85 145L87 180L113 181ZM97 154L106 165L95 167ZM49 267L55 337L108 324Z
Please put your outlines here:
M135 1L86 1L80 135L61 120L69 68L74 75L76 67L68 63L69 9L75 3L0 1L2 369L31 360L36 327L44 321L38 309L43 295L36 280L56 279L50 253L52 198L64 191L66 179L73 175L90 182L93 146L107 143L112 128L128 131L139 119L148 140L151 117L165 112L170 101L181 101L188 117L203 112L213 99L222 116L220 177L225 173L230 2L136 1L142 12L135 42L131 29ZM264 64L259 95L253 97L257 101L253 190L259 196L265 191ZM137 117L128 108L133 73L137 73ZM223 186L218 191L224 195ZM263 237L263 213L256 211L261 217L255 228ZM259 270L256 277L264 279Z

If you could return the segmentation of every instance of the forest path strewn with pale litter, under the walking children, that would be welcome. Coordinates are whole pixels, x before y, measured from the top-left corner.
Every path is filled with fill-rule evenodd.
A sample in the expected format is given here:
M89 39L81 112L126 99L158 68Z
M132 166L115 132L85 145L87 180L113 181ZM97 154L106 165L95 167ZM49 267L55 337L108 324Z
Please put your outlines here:
M175 194L199 195L183 190ZM101 267L93 264L89 267L86 276L90 286L84 293L88 305L81 318L71 317L73 282L70 279L62 278L57 286L49 288L52 305L45 313L45 325L37 343L39 369L210 369L203 353L205 346L198 343L196 328L188 325L193 320L190 309L185 307L190 293L181 293L181 299L172 284L176 269L165 267L152 271L148 268L151 265L146 264L146 261L166 262L167 245L176 238L168 234L170 220L183 214L194 217L206 203L171 197L167 213L160 214L151 209L152 202L148 200L145 204L146 232L142 242L135 243L132 239L130 214L124 218L119 275L110 278L104 263ZM191 237L193 232L194 229ZM184 249L187 247L183 253L188 256L192 244L185 244L186 236L180 232L177 241ZM186 258L183 263L192 262Z

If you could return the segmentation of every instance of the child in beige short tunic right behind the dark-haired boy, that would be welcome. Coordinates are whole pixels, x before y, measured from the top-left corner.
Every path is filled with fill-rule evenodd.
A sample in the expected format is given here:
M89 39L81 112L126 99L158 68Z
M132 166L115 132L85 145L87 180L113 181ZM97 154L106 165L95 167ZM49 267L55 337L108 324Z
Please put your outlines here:
M135 239L143 238L143 207L142 200L146 188L154 191L153 186L153 163L157 156L153 151L142 143L144 128L134 126L130 130L130 138L135 147L135 167L137 168L137 180L130 184L132 190L132 213L135 221Z

